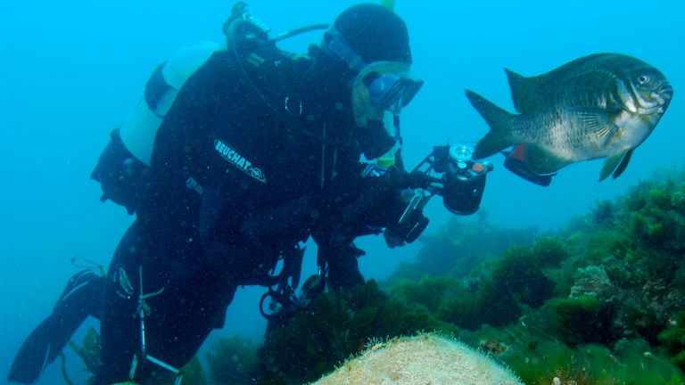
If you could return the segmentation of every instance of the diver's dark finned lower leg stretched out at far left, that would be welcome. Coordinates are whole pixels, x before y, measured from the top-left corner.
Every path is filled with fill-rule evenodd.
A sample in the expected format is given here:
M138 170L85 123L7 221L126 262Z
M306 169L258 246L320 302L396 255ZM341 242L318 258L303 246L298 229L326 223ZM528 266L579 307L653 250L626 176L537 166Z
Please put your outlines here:
M8 381L36 382L45 366L52 363L87 315L98 316L104 278L92 270L72 276L53 313L29 334L14 357Z

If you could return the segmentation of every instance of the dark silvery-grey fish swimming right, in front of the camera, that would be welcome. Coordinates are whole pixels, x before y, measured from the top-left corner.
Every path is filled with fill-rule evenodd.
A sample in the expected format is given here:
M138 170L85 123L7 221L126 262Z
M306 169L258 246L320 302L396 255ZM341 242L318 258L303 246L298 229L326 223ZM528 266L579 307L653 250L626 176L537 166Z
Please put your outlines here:
M590 54L536 77L505 70L518 114L466 90L491 128L474 158L526 144L525 165L541 176L602 158L599 181L620 176L673 98L660 70L623 53Z

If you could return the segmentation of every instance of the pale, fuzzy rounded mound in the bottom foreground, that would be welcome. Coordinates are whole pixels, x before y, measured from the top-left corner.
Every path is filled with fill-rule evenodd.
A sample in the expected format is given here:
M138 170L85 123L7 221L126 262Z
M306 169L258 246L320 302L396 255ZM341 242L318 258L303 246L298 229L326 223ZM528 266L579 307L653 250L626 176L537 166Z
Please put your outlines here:
M521 384L491 357L435 334L374 342L312 385Z

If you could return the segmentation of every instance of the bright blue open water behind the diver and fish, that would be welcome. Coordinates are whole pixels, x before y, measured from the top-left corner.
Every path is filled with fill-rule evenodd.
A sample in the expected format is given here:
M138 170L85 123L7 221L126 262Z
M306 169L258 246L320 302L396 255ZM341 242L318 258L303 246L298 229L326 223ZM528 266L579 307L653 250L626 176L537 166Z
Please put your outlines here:
M463 4L462 4L463 3ZM285 31L329 22L351 1L254 0L252 12ZM101 203L88 176L109 132L141 96L151 71L178 47L219 41L231 2L35 1L4 4L0 13L0 384L16 349L45 315L71 274L70 258L107 265L132 221L125 210ZM488 177L483 210L496 225L564 225L593 202L610 199L656 168L682 168L685 84L685 3L662 1L454 2L397 0L407 21L414 72L425 86L402 115L405 160L422 160L435 144L476 141L488 127L467 102L465 88L514 111L504 68L538 75L577 57L627 53L662 70L675 89L669 111L616 180L597 183L602 162L562 171L542 188L501 167ZM320 33L281 45L304 52ZM435 199L425 210L428 232L450 217ZM388 250L380 237L359 242L368 277L383 279L420 243ZM311 252L308 252L309 257ZM309 258L308 272L313 261ZM306 276L306 275L305 275ZM239 293L220 335L259 337L261 290ZM95 324L90 322L89 324ZM77 340L82 338L78 332ZM210 344L209 344L210 346ZM207 347L205 347L206 349ZM69 349L67 349L69 350ZM72 354L70 373L82 368ZM58 365L40 384L61 383Z

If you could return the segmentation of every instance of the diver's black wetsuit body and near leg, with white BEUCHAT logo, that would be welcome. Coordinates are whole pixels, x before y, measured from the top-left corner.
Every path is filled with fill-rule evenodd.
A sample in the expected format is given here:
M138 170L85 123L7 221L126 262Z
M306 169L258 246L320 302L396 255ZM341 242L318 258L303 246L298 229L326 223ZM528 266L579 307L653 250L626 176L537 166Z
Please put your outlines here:
M132 316L139 271L144 294L163 289L146 299L147 352L180 367L223 325L238 285L267 282L318 217L367 188L349 88L336 94L309 61L258 53L259 66L244 65L252 84L231 53L214 53L158 131L136 223L109 268L98 384L126 381L141 350ZM354 258L337 263L361 280ZM143 365L136 380L151 369Z

